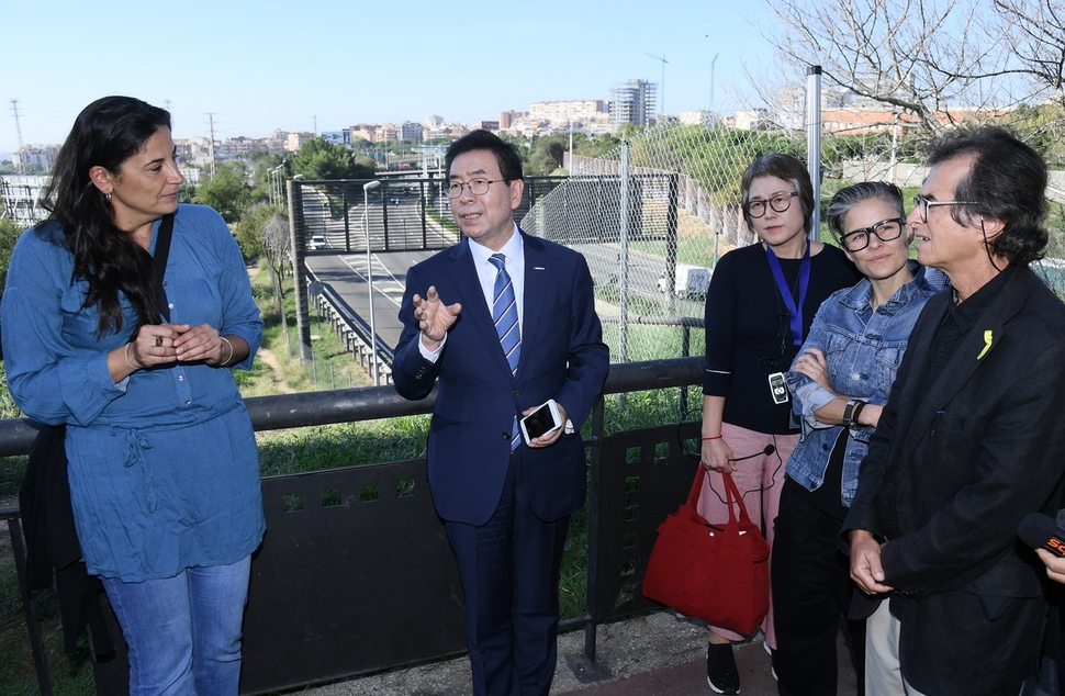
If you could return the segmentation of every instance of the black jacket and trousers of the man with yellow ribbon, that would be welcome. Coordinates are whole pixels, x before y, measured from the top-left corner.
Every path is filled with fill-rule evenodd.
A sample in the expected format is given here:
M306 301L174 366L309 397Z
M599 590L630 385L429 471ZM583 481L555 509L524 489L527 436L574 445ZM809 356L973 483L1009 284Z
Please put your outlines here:
M1017 526L1033 510L1055 515L1062 498L1065 306L1013 269L921 398L952 302L937 294L913 327L843 528L887 540L881 560L915 688L1017 693L1043 614L1010 600L1038 599L1045 581Z

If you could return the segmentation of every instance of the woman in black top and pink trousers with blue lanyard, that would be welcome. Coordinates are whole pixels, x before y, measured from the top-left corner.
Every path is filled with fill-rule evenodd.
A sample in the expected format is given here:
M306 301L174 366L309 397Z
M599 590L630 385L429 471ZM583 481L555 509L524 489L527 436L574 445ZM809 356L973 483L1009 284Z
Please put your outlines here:
M748 167L742 204L761 244L726 254L706 295L702 459L710 475L699 513L710 524L728 520L719 472L731 472L772 545L784 462L799 434L785 372L821 302L861 276L842 251L808 239L814 187L794 157L766 155ZM763 624L770 650L776 646L772 617L771 609ZM731 641L743 638L710 626L707 683L719 694L739 693Z

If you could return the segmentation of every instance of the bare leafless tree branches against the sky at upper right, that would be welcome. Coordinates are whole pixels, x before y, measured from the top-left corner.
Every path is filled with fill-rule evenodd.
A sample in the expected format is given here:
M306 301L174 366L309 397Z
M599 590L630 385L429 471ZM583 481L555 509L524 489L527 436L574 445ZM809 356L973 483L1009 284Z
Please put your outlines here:
M1065 13L1056 4L780 0L769 7L783 29L766 37L796 74L819 65L830 89L913 114L926 133L935 133L962 106L989 120L1060 92Z

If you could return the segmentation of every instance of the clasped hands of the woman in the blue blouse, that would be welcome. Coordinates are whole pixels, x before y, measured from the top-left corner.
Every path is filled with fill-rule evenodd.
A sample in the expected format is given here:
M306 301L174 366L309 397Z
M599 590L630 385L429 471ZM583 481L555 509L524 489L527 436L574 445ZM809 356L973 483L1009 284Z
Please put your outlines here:
M218 366L233 359L232 345L210 324L148 324L141 327L127 349L126 361L132 368L197 360Z

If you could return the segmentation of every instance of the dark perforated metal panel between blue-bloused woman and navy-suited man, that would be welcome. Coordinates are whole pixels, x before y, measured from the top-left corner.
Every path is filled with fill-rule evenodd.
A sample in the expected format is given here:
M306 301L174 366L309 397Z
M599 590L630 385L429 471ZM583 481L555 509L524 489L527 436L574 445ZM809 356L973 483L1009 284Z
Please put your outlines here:
M242 693L466 650L458 570L425 460L271 476L262 493Z

